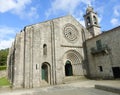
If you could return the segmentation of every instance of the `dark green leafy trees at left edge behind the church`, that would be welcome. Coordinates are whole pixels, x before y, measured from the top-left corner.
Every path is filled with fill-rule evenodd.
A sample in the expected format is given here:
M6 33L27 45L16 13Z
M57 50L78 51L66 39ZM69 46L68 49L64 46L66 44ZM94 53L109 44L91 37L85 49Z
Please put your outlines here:
M0 66L7 64L8 51L9 51L9 49L0 50Z

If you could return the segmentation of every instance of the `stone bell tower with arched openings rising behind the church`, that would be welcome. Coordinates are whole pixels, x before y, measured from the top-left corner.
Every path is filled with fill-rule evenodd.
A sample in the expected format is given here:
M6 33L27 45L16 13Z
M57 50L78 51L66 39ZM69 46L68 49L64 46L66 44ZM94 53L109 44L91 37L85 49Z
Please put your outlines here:
M84 20L86 28L93 37L101 33L97 13L94 12L91 6L88 6L86 14L84 15Z

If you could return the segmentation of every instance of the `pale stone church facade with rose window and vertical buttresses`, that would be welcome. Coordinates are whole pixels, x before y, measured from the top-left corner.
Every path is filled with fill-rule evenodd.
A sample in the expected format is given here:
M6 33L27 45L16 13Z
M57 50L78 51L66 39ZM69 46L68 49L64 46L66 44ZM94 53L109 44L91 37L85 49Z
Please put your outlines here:
M8 78L13 87L32 88L83 76L83 37L88 31L72 16L26 26L10 49Z

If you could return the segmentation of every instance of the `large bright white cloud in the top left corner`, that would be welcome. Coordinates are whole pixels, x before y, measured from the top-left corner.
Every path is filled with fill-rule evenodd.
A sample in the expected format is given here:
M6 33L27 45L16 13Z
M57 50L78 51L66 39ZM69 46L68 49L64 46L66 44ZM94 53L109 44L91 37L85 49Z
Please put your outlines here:
M37 8L27 7L27 5L30 5L31 3L32 0L0 0L0 13L9 11L21 18L36 19L39 17L37 14Z

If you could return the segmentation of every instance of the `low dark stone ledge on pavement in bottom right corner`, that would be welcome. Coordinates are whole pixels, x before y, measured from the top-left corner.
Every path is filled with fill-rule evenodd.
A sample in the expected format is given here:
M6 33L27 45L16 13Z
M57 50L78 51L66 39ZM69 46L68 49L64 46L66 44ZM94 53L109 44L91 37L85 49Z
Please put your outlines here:
M113 86L107 86L107 85L95 85L95 88L120 94L120 88L119 87L113 87Z

